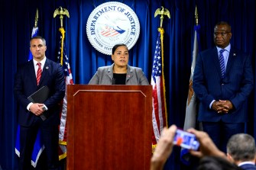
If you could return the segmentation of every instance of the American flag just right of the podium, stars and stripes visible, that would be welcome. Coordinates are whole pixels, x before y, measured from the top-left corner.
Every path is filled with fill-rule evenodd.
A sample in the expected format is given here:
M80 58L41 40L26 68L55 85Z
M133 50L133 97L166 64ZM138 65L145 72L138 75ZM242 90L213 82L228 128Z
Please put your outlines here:
M165 101L165 87L164 87L164 66L163 66L163 49L161 46L161 38L164 31L159 29L160 33L157 37L157 46L154 52L154 63L151 75L151 85L153 88L153 135L152 135L152 148L157 145L160 138L160 133L164 127L167 126L167 109ZM162 44L163 45L163 44Z

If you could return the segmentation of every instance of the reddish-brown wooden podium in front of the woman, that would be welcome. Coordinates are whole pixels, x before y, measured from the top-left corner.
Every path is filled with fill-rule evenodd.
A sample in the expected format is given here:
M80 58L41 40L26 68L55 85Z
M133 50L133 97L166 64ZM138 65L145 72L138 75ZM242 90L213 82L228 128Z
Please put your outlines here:
M151 85L67 86L67 169L150 169Z

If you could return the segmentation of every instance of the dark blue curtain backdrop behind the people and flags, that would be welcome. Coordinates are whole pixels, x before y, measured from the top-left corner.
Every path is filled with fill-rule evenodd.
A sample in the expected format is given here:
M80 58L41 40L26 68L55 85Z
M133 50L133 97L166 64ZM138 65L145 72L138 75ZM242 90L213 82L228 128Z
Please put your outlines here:
M112 63L111 57L99 53L86 36L86 21L98 5L110 1L89 0L4 0L0 2L0 165L3 169L17 169L15 136L17 128L17 103L13 86L17 66L28 59L29 39L34 27L34 15L39 10L39 35L47 40L47 57L57 61L60 18L53 18L53 11L62 6L70 12L64 18L66 53L75 84L87 84L99 66ZM123 0L138 15L141 34L130 50L131 66L144 70L151 81L152 59L157 40L160 18L154 18L157 8L169 9L170 19L164 18L164 74L167 92L168 123L183 127L190 66L193 51L195 7L201 26L201 50L212 47L213 27L218 21L232 25L232 45L251 54L255 72L255 6L254 0ZM255 83L256 84L256 83ZM247 131L256 136L254 119L255 92L249 98ZM180 152L175 148L167 161L168 169L183 169ZM121 160L122 161L122 160Z

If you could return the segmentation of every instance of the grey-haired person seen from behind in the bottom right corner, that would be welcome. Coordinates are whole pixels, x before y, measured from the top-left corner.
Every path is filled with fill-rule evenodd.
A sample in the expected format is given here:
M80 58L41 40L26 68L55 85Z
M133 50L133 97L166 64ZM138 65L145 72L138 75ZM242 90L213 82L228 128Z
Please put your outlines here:
M256 148L253 136L238 133L228 140L228 160L246 170L256 170Z

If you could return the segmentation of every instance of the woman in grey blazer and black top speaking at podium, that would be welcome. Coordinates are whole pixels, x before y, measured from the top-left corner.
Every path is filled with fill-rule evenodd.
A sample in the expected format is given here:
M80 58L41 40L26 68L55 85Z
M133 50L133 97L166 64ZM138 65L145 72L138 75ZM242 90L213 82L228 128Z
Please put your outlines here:
M141 68L129 66L128 47L118 43L112 48L111 66L99 67L89 85L149 85Z

